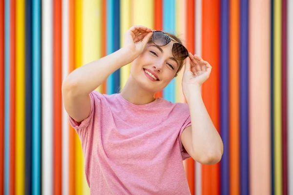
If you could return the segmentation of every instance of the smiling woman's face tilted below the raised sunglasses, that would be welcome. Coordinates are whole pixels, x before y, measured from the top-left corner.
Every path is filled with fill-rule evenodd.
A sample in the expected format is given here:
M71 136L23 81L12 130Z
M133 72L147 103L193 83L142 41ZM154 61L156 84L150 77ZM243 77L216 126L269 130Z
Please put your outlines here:
M131 76L151 93L164 89L177 73L179 62L172 55L172 45L170 42L160 47L149 42L143 53L132 62Z

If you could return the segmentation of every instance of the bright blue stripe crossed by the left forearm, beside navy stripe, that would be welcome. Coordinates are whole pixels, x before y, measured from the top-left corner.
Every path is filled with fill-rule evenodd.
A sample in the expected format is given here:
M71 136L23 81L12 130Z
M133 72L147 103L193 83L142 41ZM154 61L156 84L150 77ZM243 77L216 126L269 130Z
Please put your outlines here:
M106 28L107 28L107 55L111 54L114 52L114 39L113 39L113 34L114 34L114 0L107 0L107 22L106 22ZM118 31L120 32L120 31ZM107 94L114 94L114 73L112 73L108 78L107 78Z

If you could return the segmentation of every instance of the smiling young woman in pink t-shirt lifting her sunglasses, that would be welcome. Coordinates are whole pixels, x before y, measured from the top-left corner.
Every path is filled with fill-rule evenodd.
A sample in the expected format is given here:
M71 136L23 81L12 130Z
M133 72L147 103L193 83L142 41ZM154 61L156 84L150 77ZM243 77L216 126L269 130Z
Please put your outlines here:
M214 164L223 154L200 92L211 66L171 34L132 26L124 39L123 48L74 70L63 81L64 106L81 139L91 194L190 194L182 161L192 157ZM183 61L187 104L154 98L177 76ZM94 91L130 62L121 93Z

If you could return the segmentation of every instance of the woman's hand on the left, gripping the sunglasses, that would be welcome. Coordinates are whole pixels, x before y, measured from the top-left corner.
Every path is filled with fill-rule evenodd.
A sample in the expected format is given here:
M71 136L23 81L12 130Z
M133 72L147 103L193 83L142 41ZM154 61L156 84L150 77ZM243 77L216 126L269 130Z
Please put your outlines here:
M146 48L152 30L146 26L132 26L124 35L124 48L136 59Z

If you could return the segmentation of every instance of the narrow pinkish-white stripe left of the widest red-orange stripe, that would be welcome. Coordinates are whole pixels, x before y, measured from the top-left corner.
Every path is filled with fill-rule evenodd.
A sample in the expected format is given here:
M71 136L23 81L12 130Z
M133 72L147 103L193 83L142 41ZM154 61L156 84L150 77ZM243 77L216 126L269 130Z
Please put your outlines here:
M195 54L201 56L202 51L202 1L196 0L195 3ZM195 162L195 195L202 194L202 172L201 164Z

